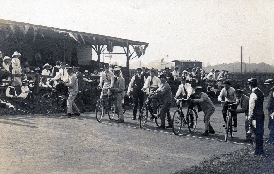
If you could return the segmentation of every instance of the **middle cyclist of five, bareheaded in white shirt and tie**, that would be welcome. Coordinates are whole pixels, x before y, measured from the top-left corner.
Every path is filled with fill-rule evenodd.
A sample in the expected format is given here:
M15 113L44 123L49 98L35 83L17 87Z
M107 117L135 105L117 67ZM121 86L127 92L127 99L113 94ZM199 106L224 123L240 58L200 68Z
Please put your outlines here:
M155 91L160 91L161 89L161 81L158 77L155 76L155 72L153 69L150 69L149 71L150 76L145 81L144 87L142 88L142 91L148 91L148 88L150 88L150 92L153 93ZM153 108L151 107L150 103L153 103ZM157 99L152 99L148 101L148 110L151 114L152 119L157 118Z

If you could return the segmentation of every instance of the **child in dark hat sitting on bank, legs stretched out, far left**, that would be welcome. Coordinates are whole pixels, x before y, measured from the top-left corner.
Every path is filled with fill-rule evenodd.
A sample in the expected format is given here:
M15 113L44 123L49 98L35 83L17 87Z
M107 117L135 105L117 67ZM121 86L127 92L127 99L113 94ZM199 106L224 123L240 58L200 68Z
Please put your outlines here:
M7 99L11 100L11 102L14 102L16 104L18 104L19 106L25 108L25 109L34 109L35 107L30 107L29 105L27 105L25 102L21 101L15 91L15 80L10 80L9 81L9 86L7 87L6 90L6 97Z

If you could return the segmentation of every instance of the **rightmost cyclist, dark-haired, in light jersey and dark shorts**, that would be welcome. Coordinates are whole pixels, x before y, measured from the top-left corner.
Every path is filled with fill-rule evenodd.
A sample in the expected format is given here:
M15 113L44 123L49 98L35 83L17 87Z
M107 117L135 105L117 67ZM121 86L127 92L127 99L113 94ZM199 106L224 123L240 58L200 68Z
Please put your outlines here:
M225 80L223 82L224 88L222 88L220 95L218 96L218 101L219 102L225 102L224 107L222 109L222 114L224 117L224 121L226 121L227 117L227 109L229 107L228 104L233 104L233 103L239 103L239 99L236 97L236 92L235 89L230 86L230 81ZM222 100L222 96L225 96L225 101ZM238 105L231 105L231 109L235 110L237 109ZM237 114L236 112L232 112L231 116L234 121L234 127L233 127L233 132L237 132ZM223 127L225 127L225 124L223 124Z

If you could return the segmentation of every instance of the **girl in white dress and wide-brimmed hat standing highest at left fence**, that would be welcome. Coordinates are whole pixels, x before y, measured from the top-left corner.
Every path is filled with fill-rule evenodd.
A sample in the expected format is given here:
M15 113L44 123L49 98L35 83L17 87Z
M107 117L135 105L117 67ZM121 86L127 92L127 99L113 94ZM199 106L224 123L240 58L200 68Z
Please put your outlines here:
M12 74L23 74L25 75L24 79L27 78L26 74L23 73L21 68L21 62L18 58L21 57L22 54L15 51L12 55L11 65L12 65ZM22 85L22 77L15 77L15 86Z

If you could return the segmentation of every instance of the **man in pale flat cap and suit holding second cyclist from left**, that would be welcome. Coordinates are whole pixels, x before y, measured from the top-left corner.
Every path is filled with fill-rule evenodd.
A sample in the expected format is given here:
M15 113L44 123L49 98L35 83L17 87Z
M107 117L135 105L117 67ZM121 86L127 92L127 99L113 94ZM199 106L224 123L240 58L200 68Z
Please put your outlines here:
M125 121L123 114L122 101L124 99L125 94L125 79L121 76L120 72L121 68L114 68L113 72L115 77L113 88L110 88L110 91L114 91L113 96L115 97L115 107L117 109L118 122L123 123Z

